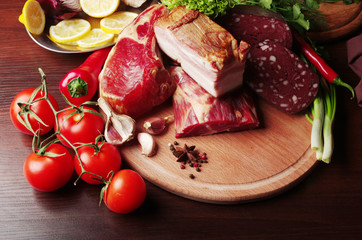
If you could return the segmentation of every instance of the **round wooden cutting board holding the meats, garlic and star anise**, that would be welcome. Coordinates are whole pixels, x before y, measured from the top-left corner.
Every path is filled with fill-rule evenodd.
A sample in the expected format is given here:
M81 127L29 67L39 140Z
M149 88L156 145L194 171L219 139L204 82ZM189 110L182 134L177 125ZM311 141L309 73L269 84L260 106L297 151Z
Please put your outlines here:
M317 160L310 149L311 124L304 115L287 115L265 102L258 104L262 121L258 129L176 139L171 124L155 137L155 156L143 156L140 145L132 141L120 148L122 157L151 183L185 198L232 204L271 197L301 180ZM138 129L149 116L171 114L167 102L139 119ZM188 165L180 168L168 146L175 141L207 153L208 163L200 172Z

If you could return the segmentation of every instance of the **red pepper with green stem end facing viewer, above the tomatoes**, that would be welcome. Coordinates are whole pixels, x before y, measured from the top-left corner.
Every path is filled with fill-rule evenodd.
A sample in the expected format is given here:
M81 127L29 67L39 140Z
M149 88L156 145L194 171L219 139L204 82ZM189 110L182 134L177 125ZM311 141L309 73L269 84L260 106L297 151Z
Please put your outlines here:
M59 90L70 103L79 106L92 99L98 89L99 73L110 50L111 47L95 51L60 81Z

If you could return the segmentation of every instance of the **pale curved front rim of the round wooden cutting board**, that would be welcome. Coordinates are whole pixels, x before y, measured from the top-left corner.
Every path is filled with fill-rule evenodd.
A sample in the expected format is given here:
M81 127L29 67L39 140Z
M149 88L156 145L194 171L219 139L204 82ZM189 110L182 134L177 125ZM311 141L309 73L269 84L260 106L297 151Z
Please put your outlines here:
M317 163L314 154L309 147L293 165L271 177L232 185L200 183L197 179L175 177L166 170L162 171L162 167L151 160L142 164L127 163L147 181L180 197L212 204L238 204L267 199L290 189L314 168ZM149 168L158 168L162 174L152 176L148 174Z

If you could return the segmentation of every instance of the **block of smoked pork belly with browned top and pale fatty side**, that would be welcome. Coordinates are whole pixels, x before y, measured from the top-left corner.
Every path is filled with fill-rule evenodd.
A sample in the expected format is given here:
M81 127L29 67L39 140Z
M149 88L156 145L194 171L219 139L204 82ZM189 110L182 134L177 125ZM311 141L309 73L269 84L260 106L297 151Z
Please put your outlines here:
M201 87L219 97L243 84L249 44L236 39L205 14L183 6L154 26L161 50Z

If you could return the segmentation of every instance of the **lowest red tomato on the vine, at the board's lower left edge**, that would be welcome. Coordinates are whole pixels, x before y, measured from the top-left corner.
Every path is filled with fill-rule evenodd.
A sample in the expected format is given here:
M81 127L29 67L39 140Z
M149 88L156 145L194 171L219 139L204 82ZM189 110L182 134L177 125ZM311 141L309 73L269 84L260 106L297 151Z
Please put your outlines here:
M146 184L135 171L124 169L117 172L111 179L103 201L116 213L130 213L136 210L146 198Z

